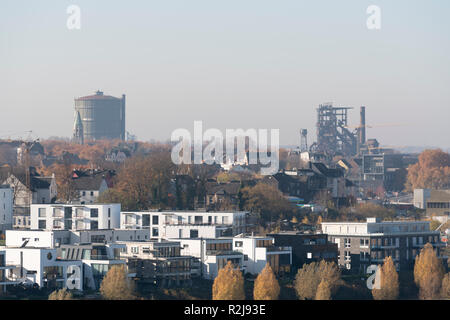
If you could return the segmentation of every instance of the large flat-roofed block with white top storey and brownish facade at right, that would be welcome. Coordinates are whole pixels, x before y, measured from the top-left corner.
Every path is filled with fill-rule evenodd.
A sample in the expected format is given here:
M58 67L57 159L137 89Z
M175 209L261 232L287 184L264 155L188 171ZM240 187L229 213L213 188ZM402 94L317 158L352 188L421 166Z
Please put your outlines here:
M352 272L366 273L371 264L382 264L391 256L398 270L411 270L426 243L442 258L440 232L430 230L429 221L324 222L322 232L338 245L338 263Z

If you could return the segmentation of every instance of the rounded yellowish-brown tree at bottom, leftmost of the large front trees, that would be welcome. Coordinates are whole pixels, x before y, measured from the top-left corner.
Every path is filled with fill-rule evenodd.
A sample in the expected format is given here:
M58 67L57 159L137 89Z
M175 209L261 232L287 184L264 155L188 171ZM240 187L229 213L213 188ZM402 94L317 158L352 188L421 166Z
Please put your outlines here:
M127 277L124 265L109 269L100 285L100 293L106 300L133 300L134 284Z

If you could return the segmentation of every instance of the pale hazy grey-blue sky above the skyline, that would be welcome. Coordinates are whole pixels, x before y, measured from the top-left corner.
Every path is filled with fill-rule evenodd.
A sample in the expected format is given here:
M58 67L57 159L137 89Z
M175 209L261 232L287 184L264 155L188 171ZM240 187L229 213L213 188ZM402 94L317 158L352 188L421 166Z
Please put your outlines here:
M72 4L81 30L66 27ZM367 106L383 145L450 147L448 0L1 0L0 61L0 138L71 136L74 97L100 89L127 95L142 140L203 120L312 142L332 101L354 125Z

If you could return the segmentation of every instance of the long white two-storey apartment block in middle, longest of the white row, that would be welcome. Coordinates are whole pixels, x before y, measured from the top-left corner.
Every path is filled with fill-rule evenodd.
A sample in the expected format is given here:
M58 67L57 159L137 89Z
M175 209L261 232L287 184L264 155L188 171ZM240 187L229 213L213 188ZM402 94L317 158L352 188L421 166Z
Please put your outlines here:
M246 231L245 211L122 212L121 229L149 229L153 239L218 238Z

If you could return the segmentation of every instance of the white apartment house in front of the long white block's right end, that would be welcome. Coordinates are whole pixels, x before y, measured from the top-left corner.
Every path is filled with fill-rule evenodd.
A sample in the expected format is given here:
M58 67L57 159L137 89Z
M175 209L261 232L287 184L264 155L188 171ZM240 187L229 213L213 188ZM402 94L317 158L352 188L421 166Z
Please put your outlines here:
M174 239L181 245L181 255L192 256L192 275L213 280L221 268L231 261L244 271L244 255L233 251L233 239Z

